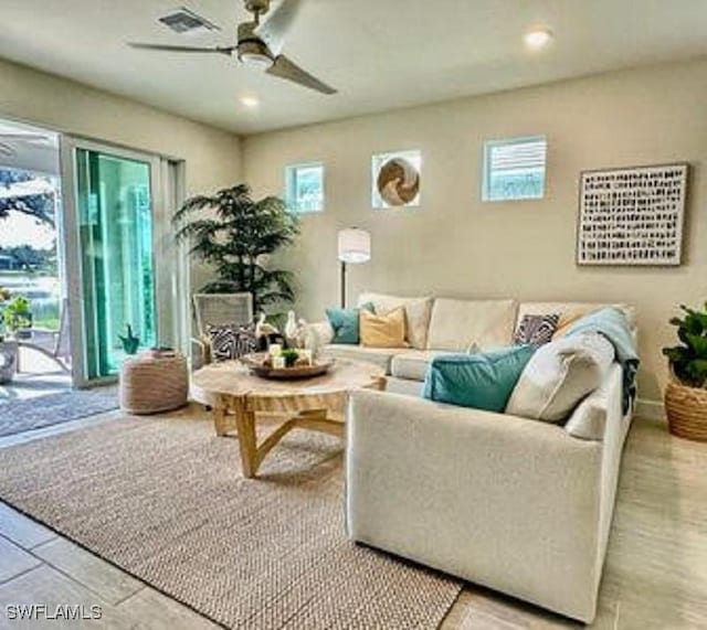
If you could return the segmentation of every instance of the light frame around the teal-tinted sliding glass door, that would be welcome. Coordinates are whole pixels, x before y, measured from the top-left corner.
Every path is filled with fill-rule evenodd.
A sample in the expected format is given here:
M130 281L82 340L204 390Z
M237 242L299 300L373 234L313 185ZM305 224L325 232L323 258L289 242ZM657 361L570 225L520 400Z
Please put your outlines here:
M62 173L63 194L63 227L64 245L66 256L64 258L64 273L67 282L68 317L70 317L70 341L72 350L72 381L74 387L85 388L95 385L115 383L117 375L99 378L87 377L87 345L85 338L85 311L83 277L84 269L81 258L81 243L78 237L78 209L76 203L77 179L76 179L76 151L84 149L105 153L116 158L135 160L149 164L150 171L150 200L152 212L152 258L155 269L155 301L157 307L157 331L160 334L160 305L158 299L158 287L162 285L163 266L158 265L157 241L158 233L162 229L158 226L157 217L165 207L165 186L162 185L162 162L163 159L151 153L144 153L133 149L125 149L115 145L87 140L77 136L62 135L60 138L60 167ZM166 279L165 279L166 280Z

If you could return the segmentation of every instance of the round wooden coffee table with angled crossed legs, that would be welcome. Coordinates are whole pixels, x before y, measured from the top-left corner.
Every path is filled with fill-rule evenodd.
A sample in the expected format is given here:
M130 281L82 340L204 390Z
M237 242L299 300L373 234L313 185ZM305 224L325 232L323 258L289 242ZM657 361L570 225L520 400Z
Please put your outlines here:
M252 374L239 361L224 361L193 373L191 397L212 407L218 436L236 429L243 474L252 478L265 456L293 429L342 436L348 395L362 388L384 389L383 370L361 361L337 360L321 376L271 381ZM286 417L260 445L255 435L258 413Z

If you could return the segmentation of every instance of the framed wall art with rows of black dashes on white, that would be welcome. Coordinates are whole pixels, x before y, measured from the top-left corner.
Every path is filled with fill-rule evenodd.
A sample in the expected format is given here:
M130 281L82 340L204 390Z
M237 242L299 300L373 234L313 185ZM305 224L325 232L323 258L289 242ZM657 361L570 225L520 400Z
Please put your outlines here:
M578 265L679 265L688 164L584 171Z

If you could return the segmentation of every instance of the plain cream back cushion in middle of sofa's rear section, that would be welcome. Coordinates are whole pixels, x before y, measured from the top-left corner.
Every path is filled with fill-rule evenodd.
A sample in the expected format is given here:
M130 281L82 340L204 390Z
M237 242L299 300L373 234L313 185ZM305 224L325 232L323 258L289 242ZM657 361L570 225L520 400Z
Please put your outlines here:
M516 321L514 300L437 298L432 307L428 350L466 352L508 345Z

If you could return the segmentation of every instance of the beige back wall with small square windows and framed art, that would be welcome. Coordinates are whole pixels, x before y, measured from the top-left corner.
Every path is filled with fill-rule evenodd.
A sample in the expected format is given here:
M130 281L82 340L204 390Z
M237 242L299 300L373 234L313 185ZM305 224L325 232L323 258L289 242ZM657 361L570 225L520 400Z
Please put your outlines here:
M545 134L546 199L481 202L482 142ZM370 157L423 152L422 205L370 209ZM307 318L338 300L336 232L370 229L371 263L354 267L351 295L401 293L521 300L625 300L637 306L641 397L657 401L659 349L680 302L707 299L707 58L366 116L247 138L245 179L282 193L285 164L326 163L326 211L303 221L289 264ZM685 264L678 268L574 265L579 173L584 169L692 164Z

